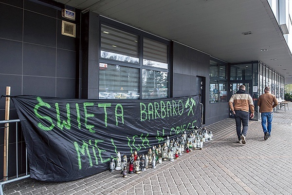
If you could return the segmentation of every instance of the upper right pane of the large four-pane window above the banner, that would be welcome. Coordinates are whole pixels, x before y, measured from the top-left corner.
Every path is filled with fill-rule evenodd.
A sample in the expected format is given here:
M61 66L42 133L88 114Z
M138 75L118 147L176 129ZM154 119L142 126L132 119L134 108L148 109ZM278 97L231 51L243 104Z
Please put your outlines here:
M167 45L150 39L143 40L143 65L168 68Z

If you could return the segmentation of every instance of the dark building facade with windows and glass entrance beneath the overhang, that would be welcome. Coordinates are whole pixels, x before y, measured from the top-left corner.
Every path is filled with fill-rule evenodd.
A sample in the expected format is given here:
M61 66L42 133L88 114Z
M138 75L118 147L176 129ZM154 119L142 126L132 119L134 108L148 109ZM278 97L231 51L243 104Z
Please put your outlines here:
M200 94L203 125L230 117L228 100L240 84L247 86L255 104L265 86L284 99L285 77L260 59L225 61L91 11L66 7L74 11L75 20L65 18L64 7L53 0L0 0L1 95L6 86L11 86L11 96L114 101ZM66 24L71 25L68 32ZM291 20L287 24L289 28ZM256 107L256 119L257 112ZM0 120L4 113L1 98ZM10 118L18 118L13 105ZM11 129L14 137L15 127ZM3 137L1 131L1 149ZM21 136L11 138L9 147L13 151L16 142L21 156ZM23 173L25 157L21 158ZM2 162L0 156L0 167ZM9 176L15 173L9 170Z

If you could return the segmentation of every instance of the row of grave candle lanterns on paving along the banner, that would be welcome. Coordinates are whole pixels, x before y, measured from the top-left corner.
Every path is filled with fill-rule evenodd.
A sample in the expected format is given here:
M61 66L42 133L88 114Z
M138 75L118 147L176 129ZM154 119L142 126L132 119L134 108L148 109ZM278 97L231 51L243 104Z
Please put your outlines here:
M174 161L184 152L189 153L193 149L202 150L203 143L212 139L212 132L209 131L207 133L205 128L193 130L189 135L184 131L177 140L170 140L167 136L163 146L160 144L158 147L152 146L152 149L149 148L146 155L138 155L137 151L135 151L130 156L128 171L127 156L124 155L122 158L120 152L118 152L116 160L114 158L110 160L110 172L122 170L121 174L123 177L127 177L128 174L140 174L141 171L146 171L150 164L152 168L156 168L157 162L160 164L166 160Z

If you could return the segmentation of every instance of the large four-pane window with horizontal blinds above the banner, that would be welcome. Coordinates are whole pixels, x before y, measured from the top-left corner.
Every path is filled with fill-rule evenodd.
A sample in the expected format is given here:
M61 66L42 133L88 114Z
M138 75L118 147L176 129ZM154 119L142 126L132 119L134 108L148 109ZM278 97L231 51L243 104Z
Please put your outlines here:
M170 42L121 29L101 24L99 98L167 98Z

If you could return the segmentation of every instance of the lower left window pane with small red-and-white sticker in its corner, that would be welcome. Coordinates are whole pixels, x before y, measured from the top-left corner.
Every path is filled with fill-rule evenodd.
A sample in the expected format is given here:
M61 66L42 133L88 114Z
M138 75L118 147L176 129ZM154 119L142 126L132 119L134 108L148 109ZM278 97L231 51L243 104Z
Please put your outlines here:
M139 69L114 64L100 64L99 98L139 98Z

